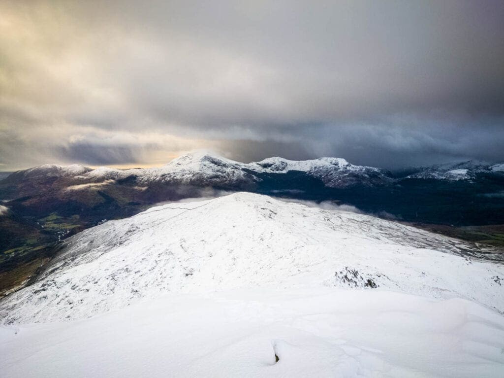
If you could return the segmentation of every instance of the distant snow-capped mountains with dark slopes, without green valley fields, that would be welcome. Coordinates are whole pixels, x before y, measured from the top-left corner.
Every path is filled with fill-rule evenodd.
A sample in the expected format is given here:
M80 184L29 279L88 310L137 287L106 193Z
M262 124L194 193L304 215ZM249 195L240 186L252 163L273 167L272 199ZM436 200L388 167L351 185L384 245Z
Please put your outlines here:
M372 213L442 224L500 224L504 164L475 161L403 171L355 166L343 158L240 163L197 151L158 168L119 170L45 165L0 181L0 200L15 213L41 220L79 217L89 227L157 202L250 191L315 201L336 200ZM447 196L450 200L447 201Z

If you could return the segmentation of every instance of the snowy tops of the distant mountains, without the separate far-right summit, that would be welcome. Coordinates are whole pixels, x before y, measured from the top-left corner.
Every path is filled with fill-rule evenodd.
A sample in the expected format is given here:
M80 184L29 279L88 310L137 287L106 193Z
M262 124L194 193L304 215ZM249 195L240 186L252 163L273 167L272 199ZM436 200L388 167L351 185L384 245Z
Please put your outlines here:
M384 185L391 182L387 171L354 166L341 158L322 157L295 161L271 157L259 162L240 163L207 151L187 153L159 168L119 170L99 167L93 170L77 165L46 165L15 172L7 180L16 182L36 177L49 179L50 183L53 183L54 179L61 178L64 183L72 179L70 184L78 185L130 179L141 185L170 183L244 189L251 188L254 183L260 181L260 174L285 174L292 171L304 172L333 188L358 184Z

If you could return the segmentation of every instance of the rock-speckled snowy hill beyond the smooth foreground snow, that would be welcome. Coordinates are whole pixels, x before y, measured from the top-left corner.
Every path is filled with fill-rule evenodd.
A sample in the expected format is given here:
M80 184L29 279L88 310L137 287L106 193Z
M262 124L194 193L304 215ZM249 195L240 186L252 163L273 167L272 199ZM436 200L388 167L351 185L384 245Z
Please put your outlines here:
M398 223L236 193L153 207L65 242L4 323L86 318L164 293L340 287L460 297L504 311L503 265Z

